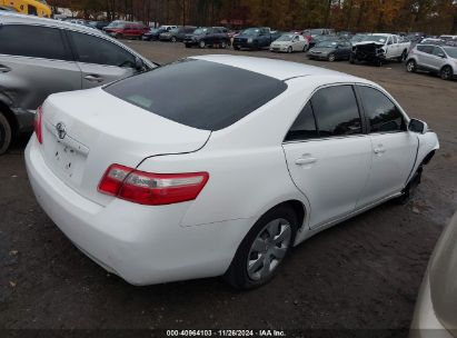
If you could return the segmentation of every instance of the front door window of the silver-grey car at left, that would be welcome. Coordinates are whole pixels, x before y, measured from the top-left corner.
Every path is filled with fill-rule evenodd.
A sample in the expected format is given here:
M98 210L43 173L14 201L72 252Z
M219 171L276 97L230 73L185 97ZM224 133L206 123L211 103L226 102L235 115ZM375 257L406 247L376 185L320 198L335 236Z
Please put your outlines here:
M70 34L78 61L135 68L135 57L121 47L85 33L70 32Z

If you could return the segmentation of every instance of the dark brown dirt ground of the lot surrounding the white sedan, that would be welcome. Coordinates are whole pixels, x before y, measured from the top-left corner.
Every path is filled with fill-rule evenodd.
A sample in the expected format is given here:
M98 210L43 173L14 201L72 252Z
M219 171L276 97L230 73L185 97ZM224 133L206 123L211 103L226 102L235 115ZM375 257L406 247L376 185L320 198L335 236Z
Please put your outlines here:
M441 149L409 203L386 203L311 238L294 250L276 280L239 294L218 278L133 287L107 274L37 205L22 140L0 157L0 328L349 328L395 329L367 336L406 336L429 255L457 209L457 82L410 74L399 63L377 68L311 62L304 53L128 43L157 62L231 52L375 80L411 117L429 123Z

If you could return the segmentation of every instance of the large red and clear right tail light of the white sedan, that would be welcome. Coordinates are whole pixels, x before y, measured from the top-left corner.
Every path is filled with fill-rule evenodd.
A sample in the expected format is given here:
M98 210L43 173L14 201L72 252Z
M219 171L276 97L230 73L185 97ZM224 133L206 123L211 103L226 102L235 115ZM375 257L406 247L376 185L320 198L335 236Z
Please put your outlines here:
M98 190L135 203L161 206L196 199L208 178L208 172L152 173L112 165Z

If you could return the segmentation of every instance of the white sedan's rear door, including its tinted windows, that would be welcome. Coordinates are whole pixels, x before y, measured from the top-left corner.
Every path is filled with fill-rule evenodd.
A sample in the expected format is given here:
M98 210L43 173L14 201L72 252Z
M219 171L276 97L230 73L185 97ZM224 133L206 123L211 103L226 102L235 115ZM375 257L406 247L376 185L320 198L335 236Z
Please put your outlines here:
M355 209L368 179L371 142L362 131L352 86L319 89L282 148L290 176L311 206L311 228Z

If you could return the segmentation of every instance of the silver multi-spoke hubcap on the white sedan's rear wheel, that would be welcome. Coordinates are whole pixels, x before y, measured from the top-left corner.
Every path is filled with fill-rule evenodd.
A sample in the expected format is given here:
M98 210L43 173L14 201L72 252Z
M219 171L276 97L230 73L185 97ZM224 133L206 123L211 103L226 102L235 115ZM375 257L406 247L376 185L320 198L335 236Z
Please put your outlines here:
M275 271L286 256L291 236L290 223L284 218L265 226L249 250L247 270L250 279L266 279Z

